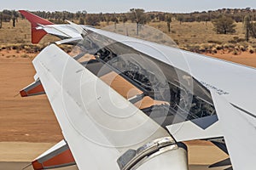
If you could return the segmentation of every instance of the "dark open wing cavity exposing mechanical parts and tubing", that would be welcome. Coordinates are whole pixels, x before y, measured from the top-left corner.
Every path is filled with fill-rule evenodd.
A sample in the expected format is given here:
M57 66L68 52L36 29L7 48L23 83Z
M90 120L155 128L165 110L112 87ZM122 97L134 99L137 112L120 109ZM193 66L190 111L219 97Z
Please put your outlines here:
M115 42L111 38L96 33L90 33L79 46L83 49L83 53L96 56L96 59L81 64L97 77L115 71L143 91L143 96L166 101L164 104L141 109L163 127L216 114L211 94L207 88L194 77L191 77L192 84L180 81L181 77L190 77L190 75L172 65L167 65L121 42ZM154 70L148 70L143 62L145 59L157 65L166 77L166 82L160 81L160 75Z

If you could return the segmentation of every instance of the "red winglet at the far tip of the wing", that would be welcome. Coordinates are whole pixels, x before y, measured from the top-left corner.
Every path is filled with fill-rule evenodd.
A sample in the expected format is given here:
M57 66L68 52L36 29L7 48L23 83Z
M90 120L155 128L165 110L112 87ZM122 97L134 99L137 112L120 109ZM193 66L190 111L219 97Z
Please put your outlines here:
M31 22L32 43L40 42L40 40L47 34L47 32L44 30L38 30L37 27L39 25L53 25L53 23L49 22L49 20L44 20L35 14L29 13L26 10L19 10L19 12L26 18L26 20Z

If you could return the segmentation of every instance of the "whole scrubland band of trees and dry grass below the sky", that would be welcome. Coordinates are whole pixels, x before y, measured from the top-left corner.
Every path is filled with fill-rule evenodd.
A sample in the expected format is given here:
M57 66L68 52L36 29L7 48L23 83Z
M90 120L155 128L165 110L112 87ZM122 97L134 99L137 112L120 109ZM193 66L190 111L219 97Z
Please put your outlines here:
M196 53L255 53L256 48L256 10L219 9L216 11L194 12L190 14L171 14L147 12L143 9L130 9L123 14L87 14L63 12L34 12L54 23L71 20L102 28L118 23L136 23L137 34L144 26L153 26L171 37L180 48ZM38 53L47 42L57 40L46 36L38 45L31 44L30 23L18 12L3 10L0 13L0 50L14 49L18 53ZM70 50L67 48L67 51Z

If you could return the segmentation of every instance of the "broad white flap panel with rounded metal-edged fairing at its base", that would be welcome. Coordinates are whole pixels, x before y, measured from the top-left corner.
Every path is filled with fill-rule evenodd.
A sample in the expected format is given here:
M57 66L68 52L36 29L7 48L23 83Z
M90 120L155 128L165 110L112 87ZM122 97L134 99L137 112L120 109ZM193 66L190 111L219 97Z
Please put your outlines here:
M171 150L177 152L173 161L178 162L179 152L183 156L182 147L178 147L164 128L61 48L55 45L44 48L33 65L80 169L119 169L122 166L121 169L125 169L162 149L167 157L173 155ZM146 146L150 152L143 156ZM135 155L125 156L128 150L133 150ZM136 154L138 160L129 165ZM187 169L186 160L173 165L170 162L168 167Z

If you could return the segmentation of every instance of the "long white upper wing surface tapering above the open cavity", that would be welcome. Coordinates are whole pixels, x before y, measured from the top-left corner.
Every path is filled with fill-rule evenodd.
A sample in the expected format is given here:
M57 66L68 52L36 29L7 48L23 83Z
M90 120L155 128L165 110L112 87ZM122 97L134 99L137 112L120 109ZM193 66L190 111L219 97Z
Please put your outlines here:
M256 77L254 76L256 70L254 68L201 54L193 54L154 42L125 37L109 31L86 28L188 72L206 88L223 94L231 104L256 116L256 108L253 104L256 100L256 91L252 90L256 86Z

